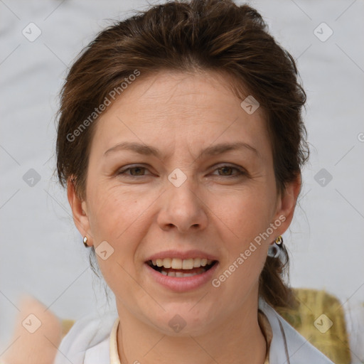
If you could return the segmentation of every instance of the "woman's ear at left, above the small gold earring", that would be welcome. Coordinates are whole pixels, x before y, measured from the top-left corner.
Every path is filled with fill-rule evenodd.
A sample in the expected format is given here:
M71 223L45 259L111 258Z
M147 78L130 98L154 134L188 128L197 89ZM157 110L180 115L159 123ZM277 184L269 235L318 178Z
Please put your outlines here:
M87 203L85 200L82 200L80 196L77 195L75 190L75 183L73 182L73 176L68 178L67 181L67 197L72 210L73 221L76 225L77 230L80 232L82 237L87 236L88 245L92 245L90 244L92 240L90 238L92 238L92 235L90 229L90 221L87 214Z

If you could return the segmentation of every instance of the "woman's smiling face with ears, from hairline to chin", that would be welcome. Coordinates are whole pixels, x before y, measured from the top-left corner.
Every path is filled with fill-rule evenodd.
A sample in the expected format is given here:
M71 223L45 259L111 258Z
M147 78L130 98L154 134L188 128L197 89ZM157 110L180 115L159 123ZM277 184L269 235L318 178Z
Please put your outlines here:
M97 121L86 198L69 184L70 203L119 314L164 333L175 324L204 333L256 308L267 249L291 222L299 183L277 195L262 110L247 113L226 78L142 76ZM215 262L208 270L205 259Z

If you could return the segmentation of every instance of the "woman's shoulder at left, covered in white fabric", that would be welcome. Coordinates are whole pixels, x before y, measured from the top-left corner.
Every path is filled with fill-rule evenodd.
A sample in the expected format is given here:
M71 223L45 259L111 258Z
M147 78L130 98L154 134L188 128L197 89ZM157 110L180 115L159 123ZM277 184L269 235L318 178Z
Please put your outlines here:
M116 319L117 312L108 311L105 314L88 314L75 321L60 343L53 364L87 363L91 352L94 358L99 355L102 360L102 357L109 355L109 335Z

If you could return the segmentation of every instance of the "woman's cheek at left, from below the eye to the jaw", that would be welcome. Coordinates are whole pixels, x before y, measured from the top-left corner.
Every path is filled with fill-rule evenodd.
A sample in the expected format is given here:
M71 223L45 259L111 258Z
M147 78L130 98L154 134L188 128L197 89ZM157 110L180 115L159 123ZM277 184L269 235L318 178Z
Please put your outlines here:
M125 306L142 305L150 297L139 284L140 242L149 228L147 211L156 199L151 193L125 191L120 186L100 188L92 195L92 218L90 226L95 233L95 250L102 241L107 241L114 251L106 260L98 255L97 262L102 276L117 300ZM137 188L134 190L137 191Z

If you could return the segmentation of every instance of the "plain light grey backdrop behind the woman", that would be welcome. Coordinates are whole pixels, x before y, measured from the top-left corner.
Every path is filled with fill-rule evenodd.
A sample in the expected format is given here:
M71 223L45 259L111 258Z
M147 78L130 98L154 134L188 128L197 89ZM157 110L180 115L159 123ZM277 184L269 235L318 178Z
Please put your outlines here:
M355 306L364 301L363 1L250 4L296 58L308 95L311 160L294 223L284 235L291 284L326 289L344 307ZM36 296L62 318L105 308L66 193L53 176L55 112L66 70L80 50L109 25L107 19L146 6L146 1L0 0L0 353L21 294ZM31 22L41 29L33 42L22 33ZM322 22L333 30L326 41L314 34ZM321 28L321 37L328 34ZM29 179L34 176L40 181Z

